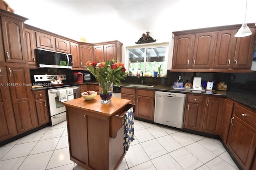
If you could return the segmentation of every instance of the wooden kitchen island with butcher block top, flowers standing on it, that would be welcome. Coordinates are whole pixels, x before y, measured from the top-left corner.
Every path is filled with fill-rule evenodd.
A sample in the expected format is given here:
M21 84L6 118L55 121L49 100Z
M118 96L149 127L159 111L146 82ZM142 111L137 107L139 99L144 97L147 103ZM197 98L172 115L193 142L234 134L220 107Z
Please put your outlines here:
M112 97L111 103L102 104L99 95L64 102L70 160L87 170L117 169L126 154L124 114L134 107L129 103Z

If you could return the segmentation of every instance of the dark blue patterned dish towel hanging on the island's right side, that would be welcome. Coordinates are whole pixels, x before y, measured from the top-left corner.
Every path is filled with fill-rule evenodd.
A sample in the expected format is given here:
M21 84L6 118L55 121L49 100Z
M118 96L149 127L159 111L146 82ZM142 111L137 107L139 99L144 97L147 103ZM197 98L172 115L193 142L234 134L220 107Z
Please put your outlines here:
M124 123L124 144L125 150L128 151L130 143L134 140L134 115L133 108L130 108L125 114Z

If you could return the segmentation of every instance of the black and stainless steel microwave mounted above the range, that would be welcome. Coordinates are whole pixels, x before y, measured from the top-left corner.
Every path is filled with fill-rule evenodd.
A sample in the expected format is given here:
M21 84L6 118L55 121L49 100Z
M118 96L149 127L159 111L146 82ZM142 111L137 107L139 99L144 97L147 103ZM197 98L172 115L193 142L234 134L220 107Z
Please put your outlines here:
M38 67L72 69L72 55L36 48Z

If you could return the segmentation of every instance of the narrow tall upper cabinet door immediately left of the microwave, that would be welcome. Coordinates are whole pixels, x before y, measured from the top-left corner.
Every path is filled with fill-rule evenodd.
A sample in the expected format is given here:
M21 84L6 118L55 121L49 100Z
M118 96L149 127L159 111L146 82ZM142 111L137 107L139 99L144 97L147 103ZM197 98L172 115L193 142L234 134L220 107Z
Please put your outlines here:
M27 56L28 56L28 64L29 67L37 67L36 66L36 55L35 55L35 47L34 47L34 31L25 28L25 39L26 39L26 47L27 47Z

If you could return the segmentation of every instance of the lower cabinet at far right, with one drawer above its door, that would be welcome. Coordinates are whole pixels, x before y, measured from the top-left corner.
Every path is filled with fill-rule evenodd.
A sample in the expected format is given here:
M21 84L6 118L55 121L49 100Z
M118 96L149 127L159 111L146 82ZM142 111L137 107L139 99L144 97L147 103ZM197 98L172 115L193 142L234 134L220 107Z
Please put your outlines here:
M256 150L256 112L238 103L234 105L227 147L244 170L252 169ZM255 164L255 162L254 162Z

